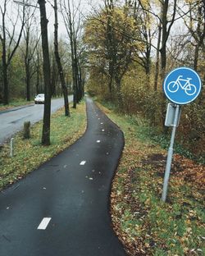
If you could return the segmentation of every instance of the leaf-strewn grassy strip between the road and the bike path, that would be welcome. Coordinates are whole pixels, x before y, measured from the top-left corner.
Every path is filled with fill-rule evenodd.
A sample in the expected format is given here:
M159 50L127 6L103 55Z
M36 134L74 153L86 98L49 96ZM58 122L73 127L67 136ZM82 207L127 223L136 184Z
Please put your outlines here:
M51 145L48 147L43 147L40 144L42 121L31 127L30 139L23 139L22 133L18 133L14 140L15 156L13 158L9 156L9 144L4 144L0 150L0 190L20 180L43 162L73 144L84 134L85 127L85 104L80 103L77 109L71 108L71 117L64 116L64 109L52 115Z

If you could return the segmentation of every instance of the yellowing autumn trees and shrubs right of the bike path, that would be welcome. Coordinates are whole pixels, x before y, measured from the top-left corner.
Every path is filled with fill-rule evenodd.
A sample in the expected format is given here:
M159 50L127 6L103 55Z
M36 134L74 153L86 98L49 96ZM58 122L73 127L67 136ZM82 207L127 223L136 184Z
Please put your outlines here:
M176 1L120 4L107 0L102 10L90 16L85 24L84 43L89 50L87 90L112 102L122 113L146 119L155 135L168 134L164 127L168 103L162 91L164 75L177 66L189 66L198 71L202 83L205 81L204 2L189 1L185 5L190 9L186 14L180 2L176 7ZM159 11L154 12L153 7ZM163 19L160 19L162 14ZM187 27L188 34L172 36L168 30L177 16L182 16L180 22ZM188 38L190 41L185 41ZM157 48L157 39L161 48ZM163 40L169 47L166 47L166 63L163 63L166 66L162 67L160 61L162 58L165 61ZM182 106L176 136L177 144L183 148L181 153L186 152L186 156L200 162L205 162L204 96L202 90L194 103Z

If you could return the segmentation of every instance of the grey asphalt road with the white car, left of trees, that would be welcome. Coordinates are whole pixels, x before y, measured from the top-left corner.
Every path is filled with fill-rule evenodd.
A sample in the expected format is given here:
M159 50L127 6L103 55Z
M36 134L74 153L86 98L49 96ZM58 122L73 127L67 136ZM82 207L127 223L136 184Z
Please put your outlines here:
M72 96L69 96L71 102ZM7 112L0 112L0 144L6 139L11 138L18 130L22 130L25 121L32 124L43 119L43 104L34 104L27 107L17 107ZM51 111L64 106L64 99L52 99Z

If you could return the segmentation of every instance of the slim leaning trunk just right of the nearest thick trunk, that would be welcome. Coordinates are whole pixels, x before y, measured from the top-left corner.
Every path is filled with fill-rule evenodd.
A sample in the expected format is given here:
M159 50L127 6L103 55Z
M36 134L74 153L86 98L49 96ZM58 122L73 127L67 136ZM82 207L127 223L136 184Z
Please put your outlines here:
M70 117L69 103L68 103L68 93L66 88L66 80L65 75L62 70L62 62L58 52L58 39L57 39L57 29L58 29L58 21L57 21L57 0L54 0L54 12L55 12L55 31L54 31L54 47L55 47L55 57L57 62L57 69L60 75L61 83L62 83L62 92L65 103L65 116Z

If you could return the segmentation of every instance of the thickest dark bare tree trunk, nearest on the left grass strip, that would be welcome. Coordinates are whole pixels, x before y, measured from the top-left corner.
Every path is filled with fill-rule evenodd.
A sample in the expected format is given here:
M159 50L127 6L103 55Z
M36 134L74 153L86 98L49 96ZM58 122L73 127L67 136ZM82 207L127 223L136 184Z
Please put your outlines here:
M50 144L50 122L51 122L51 70L48 50L48 20L46 16L45 0L39 0L41 16L41 37L43 48L43 76L45 89L45 103L43 112L42 144Z

